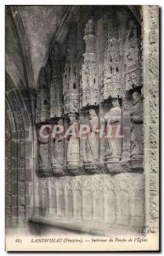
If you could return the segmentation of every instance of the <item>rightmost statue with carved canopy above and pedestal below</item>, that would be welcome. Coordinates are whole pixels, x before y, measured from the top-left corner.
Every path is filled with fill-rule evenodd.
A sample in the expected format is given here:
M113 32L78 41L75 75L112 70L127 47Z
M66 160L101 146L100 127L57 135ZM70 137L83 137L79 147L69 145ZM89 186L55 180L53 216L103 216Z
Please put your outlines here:
M133 171L143 171L143 86L140 28L128 21L125 39L125 98L123 105L123 160L128 160ZM129 115L129 116L128 116ZM127 137L127 131L130 137ZM130 138L130 140L129 140ZM130 147L129 147L130 146ZM130 155L127 153L130 149Z

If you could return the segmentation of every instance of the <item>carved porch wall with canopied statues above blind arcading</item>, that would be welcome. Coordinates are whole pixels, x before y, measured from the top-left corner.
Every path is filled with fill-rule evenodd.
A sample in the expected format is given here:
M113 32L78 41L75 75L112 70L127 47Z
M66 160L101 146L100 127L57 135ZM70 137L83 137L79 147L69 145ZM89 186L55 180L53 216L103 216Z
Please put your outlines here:
M40 73L35 217L144 228L141 17L86 9ZM120 125L123 138L41 138L43 125L57 124Z

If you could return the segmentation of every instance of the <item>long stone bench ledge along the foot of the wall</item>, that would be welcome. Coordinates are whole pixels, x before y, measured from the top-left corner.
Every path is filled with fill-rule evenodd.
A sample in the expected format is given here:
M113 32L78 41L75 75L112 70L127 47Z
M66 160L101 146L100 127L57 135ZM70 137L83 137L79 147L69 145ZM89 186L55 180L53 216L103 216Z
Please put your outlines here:
M66 218L35 217L29 220L30 232L33 235L44 236L53 234L90 234L92 236L113 236L113 235L136 235L137 229L127 226L119 226L105 223L78 222ZM138 228L139 230L139 228Z

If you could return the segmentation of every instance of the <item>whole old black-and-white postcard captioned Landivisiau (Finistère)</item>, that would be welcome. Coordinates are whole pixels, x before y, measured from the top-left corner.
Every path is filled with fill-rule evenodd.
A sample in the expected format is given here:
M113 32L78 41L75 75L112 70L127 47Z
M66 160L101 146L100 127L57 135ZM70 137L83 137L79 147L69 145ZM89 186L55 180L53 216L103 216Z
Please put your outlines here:
M159 250L159 7L5 7L7 251Z

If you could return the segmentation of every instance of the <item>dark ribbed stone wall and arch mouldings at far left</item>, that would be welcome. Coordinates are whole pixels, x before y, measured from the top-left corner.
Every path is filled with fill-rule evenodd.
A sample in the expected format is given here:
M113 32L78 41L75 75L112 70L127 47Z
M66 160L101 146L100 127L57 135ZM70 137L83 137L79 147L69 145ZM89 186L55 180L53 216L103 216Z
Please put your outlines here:
M14 11L14 10L13 10ZM19 23L19 27L18 27ZM24 227L33 207L35 90L19 12L6 8L6 226Z

